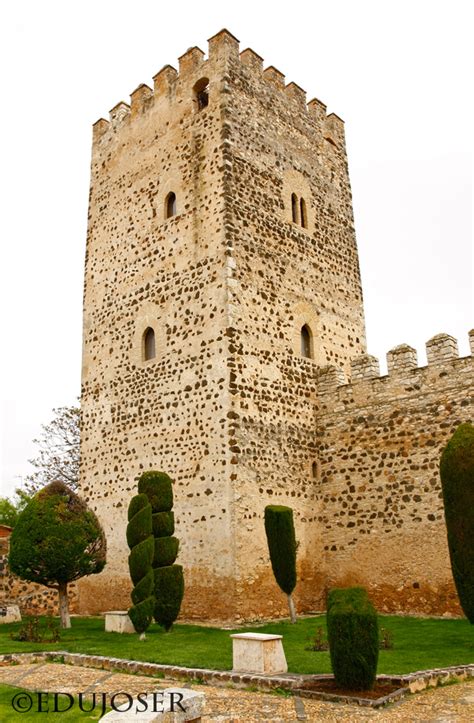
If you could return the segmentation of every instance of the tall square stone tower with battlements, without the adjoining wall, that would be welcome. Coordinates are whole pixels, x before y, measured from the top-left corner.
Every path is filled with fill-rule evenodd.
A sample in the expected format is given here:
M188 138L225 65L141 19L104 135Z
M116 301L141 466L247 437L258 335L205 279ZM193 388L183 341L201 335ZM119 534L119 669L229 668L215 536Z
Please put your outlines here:
M298 607L321 605L316 379L364 351L343 122L223 30L94 125L81 489L108 564L79 609L129 604L146 469L175 480L184 615L285 612L269 503L295 510Z

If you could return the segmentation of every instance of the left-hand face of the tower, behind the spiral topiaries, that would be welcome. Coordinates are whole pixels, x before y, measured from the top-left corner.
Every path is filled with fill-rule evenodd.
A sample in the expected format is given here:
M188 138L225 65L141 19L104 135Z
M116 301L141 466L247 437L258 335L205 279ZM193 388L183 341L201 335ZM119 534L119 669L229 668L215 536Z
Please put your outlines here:
M144 469L175 480L183 611L234 600L222 177L226 38L166 66L94 127L87 242L81 489L108 564L80 583L84 612L127 608L126 513ZM193 87L210 81L198 111ZM165 218L167 194L177 213ZM155 331L156 357L142 339ZM216 594L216 593L219 594Z

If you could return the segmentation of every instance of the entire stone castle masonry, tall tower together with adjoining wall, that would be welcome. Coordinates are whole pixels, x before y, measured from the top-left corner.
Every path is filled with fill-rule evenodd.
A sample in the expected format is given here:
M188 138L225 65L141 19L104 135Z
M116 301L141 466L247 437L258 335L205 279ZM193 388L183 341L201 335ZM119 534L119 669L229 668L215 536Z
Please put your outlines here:
M153 81L94 125L81 490L108 564L78 609L129 606L127 507L162 469L187 618L286 613L269 503L295 512L299 611L360 583L381 610L459 613L438 459L473 359L447 335L424 368L367 355L343 122L226 30Z

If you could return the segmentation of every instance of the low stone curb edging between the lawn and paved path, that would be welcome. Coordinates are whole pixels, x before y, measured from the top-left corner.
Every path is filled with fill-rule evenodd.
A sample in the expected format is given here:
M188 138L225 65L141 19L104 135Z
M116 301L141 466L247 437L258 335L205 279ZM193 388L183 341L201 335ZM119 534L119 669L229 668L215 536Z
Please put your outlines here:
M286 673L279 675L255 675L252 673L234 673L230 670L209 670L207 668L184 668L182 666L163 665L160 663L143 663L138 660L124 660L122 658L109 658L103 655L85 655L82 653L68 653L65 650L38 651L34 653L6 653L0 655L0 663L66 663L84 668L98 668L117 673L130 673L147 675L149 677L185 679L196 683L209 685L228 685L232 683L237 688L256 686L260 690L274 690L281 688L289 690L301 698L313 700L327 700L339 703L355 703L371 708L379 708L399 700L408 693L417 693L425 688L445 685L456 680L474 678L474 664L455 665L448 668L433 668L432 670L419 670L407 675L378 675L379 682L399 684L400 688L384 696L370 700L368 698L336 695L305 689L305 683L316 680L328 680L332 675L298 675Z

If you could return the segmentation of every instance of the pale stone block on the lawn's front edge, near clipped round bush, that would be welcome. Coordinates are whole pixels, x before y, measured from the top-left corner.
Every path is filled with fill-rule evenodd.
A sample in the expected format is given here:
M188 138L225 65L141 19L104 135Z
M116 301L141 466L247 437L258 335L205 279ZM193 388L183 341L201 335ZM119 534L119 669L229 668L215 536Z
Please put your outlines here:
M232 638L232 669L236 673L286 673L282 635L237 633Z

